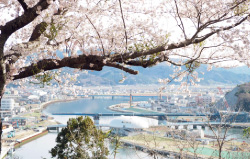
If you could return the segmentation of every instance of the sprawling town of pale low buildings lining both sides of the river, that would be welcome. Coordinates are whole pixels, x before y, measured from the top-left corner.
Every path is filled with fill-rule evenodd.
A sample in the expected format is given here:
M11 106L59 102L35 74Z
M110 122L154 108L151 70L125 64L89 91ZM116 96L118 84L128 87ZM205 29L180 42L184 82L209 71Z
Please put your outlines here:
M223 110L228 110L228 103L226 102L225 94L232 91L233 87L192 86L188 88L188 94L185 92L180 92L178 90L179 87L180 86L178 85L171 85L171 87L169 88L162 87L162 85L150 85L147 87L124 85L112 87L103 86L101 89L100 87L91 87L84 89L83 87L75 87L73 93L62 93L62 90L60 88L44 88L38 90L37 88L33 87L30 88L29 91L27 91L27 89L25 89L24 91L24 89L20 88L8 88L1 101L3 141L5 142L4 145L6 145L4 148L7 148L6 150L9 150L9 148L13 147L14 145L20 146L20 143L27 140L27 138L32 138L33 136L36 136L38 134L40 135L46 130L56 130L56 132L58 132L59 127L55 129L53 129L53 127L61 123L54 120L51 115L43 113L43 109L45 109L46 106L51 103L67 102L79 99L94 100L104 98L116 100L121 97L126 97L127 102L111 105L109 106L110 110L122 113L165 113L169 116L166 119L164 118L167 123L163 125L160 124L160 120L157 121L150 118L146 119L144 117L133 117L136 118L133 120L131 120L131 117L122 116L111 120L100 120L99 117L96 118L100 121L96 121L94 117L96 126L108 126L110 127L110 129L112 128L112 133L118 133L121 136L128 136L129 142L123 140L125 145L127 144L131 146L131 137L141 134L145 131L143 129L146 129L146 132L151 132L152 130L161 132L157 135L158 137L161 137L163 135L168 137L181 138L180 134L176 135L176 133L177 130L182 130L184 128L189 131L193 130L194 128L198 129L191 132L193 134L196 134L195 137L201 139L202 142L208 142L209 144L209 141L211 139L204 139L204 137L213 138L213 135L205 135L204 130L206 128L206 124L195 124L196 122L206 123L207 118L205 115L203 115L202 117L197 114L206 114L208 110L211 110L211 108L213 108L215 104L218 103L218 101L223 101L221 103L221 108ZM140 96L147 97L148 100L133 101L133 98ZM182 116L171 118L171 116L178 116L176 114L180 114L180 112L182 113ZM192 116L185 116L183 114L190 114ZM243 119L240 119L239 121L235 122L248 122L249 118L247 118L247 121L245 120L246 119L244 119L244 121ZM178 124L180 122L186 123L186 125ZM134 126L131 127L131 125ZM165 125L168 128L163 129L160 125ZM202 130L202 127L204 130ZM189 131L185 132L184 134L190 133ZM145 149L145 147L142 148L142 150L143 149Z

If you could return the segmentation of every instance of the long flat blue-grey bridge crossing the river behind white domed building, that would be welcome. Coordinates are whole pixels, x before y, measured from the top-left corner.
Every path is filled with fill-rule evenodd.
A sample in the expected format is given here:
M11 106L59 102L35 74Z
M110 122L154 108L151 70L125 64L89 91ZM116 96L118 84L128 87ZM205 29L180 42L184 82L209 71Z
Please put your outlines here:
M101 116L140 116L140 117L158 117L158 120L166 120L167 116L206 116L205 114L187 114L187 113L52 113L52 115L76 115L92 116L94 120L99 120Z

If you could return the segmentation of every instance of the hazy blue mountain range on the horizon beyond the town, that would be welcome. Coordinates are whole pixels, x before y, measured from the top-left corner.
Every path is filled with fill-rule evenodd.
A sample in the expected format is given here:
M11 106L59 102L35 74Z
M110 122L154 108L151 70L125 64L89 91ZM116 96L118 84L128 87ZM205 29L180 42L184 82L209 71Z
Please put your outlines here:
M77 85L117 85L122 76L127 78L122 83L123 85L136 85L136 84L157 84L158 79L170 78L169 75L173 73L173 68L167 66L165 63L158 64L150 68L132 67L139 71L138 75L131 75L111 67L104 67L102 71L89 71L88 74L80 73L78 80L80 83ZM240 71L240 70L244 71ZM69 69L66 70L67 72ZM201 85L237 85L250 81L250 69L247 67L238 67L233 69L214 68L207 71L206 65L201 65L197 70L199 77L203 78L199 84ZM204 72L204 75L201 73ZM177 84L176 82L173 82Z

